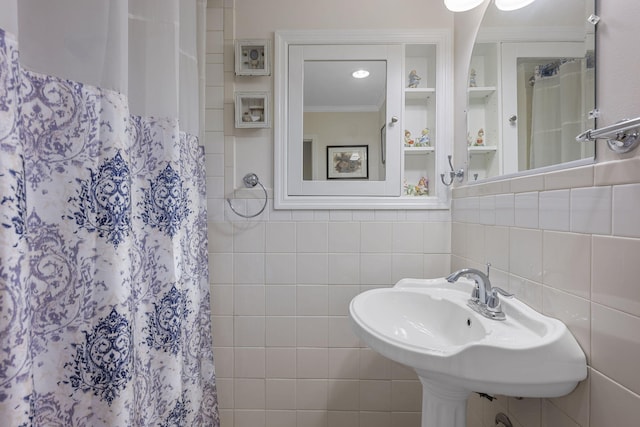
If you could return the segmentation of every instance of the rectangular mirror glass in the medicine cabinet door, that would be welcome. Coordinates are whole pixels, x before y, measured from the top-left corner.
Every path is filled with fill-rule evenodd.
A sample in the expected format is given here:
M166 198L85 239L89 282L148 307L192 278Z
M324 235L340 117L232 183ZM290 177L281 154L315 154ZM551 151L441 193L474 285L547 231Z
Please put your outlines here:
M386 61L304 61L303 180L384 181Z

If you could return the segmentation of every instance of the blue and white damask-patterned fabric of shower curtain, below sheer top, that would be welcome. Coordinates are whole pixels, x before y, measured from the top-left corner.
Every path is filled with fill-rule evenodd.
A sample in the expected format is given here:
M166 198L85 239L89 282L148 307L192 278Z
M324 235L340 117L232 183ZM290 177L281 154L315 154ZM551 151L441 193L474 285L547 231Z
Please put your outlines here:
M203 162L0 30L0 424L219 426Z

